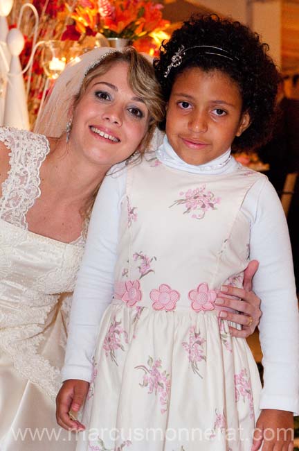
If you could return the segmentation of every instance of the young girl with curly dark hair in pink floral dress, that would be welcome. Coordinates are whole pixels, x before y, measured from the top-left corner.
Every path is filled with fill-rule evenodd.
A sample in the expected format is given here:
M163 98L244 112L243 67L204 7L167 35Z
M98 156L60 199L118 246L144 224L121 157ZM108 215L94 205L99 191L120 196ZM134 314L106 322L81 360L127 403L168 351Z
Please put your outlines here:
M264 440L290 451L298 309L287 225L267 178L230 155L269 135L278 72L248 28L200 17L163 46L156 74L166 136L98 194L57 418L87 427L78 450L248 451ZM249 256L260 261L262 394L246 341L219 315L221 287L242 287ZM82 423L66 420L85 396Z

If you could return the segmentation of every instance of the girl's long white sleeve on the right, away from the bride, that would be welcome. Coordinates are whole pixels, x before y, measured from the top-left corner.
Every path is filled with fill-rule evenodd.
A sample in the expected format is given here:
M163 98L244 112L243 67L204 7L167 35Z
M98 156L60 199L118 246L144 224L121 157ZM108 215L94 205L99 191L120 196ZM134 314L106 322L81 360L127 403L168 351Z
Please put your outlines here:
M260 407L299 414L298 302L287 221L266 179L254 185L242 210L251 216L250 257L260 262L253 280L253 289L262 300L264 389Z

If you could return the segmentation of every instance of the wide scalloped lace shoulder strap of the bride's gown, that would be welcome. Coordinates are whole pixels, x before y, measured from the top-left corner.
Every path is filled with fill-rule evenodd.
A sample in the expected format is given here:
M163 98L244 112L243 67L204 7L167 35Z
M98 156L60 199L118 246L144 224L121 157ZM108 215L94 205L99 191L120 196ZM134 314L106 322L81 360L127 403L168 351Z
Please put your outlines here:
M27 130L0 128L10 150L10 170L2 184L0 219L27 230L26 214L40 196L39 170L50 151L48 139Z

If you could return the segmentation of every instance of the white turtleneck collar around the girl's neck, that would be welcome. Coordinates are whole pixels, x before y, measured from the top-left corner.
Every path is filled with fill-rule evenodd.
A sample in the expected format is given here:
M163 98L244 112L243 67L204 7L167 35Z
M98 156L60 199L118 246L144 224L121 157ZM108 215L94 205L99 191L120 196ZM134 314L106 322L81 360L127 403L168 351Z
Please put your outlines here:
M165 166L169 166L174 169L181 169L181 171L201 174L220 174L227 172L228 169L231 169L232 165L235 166L235 160L230 155L230 148L218 158L215 158L215 160L212 160L206 164L199 164L199 166L188 164L179 158L179 155L174 152L166 135L163 139L163 144L161 144L161 146L156 150L156 157L159 161L165 164Z

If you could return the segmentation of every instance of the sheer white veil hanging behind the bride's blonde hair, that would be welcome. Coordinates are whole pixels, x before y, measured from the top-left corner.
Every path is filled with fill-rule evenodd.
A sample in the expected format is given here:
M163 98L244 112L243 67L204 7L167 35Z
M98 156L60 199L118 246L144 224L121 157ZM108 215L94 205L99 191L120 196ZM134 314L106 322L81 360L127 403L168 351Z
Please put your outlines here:
M48 94L33 131L48 137L60 137L66 130L68 113L75 94L78 94L84 76L91 67L105 54L115 51L111 47L99 47L76 58L66 65L64 71L55 81L53 90Z

